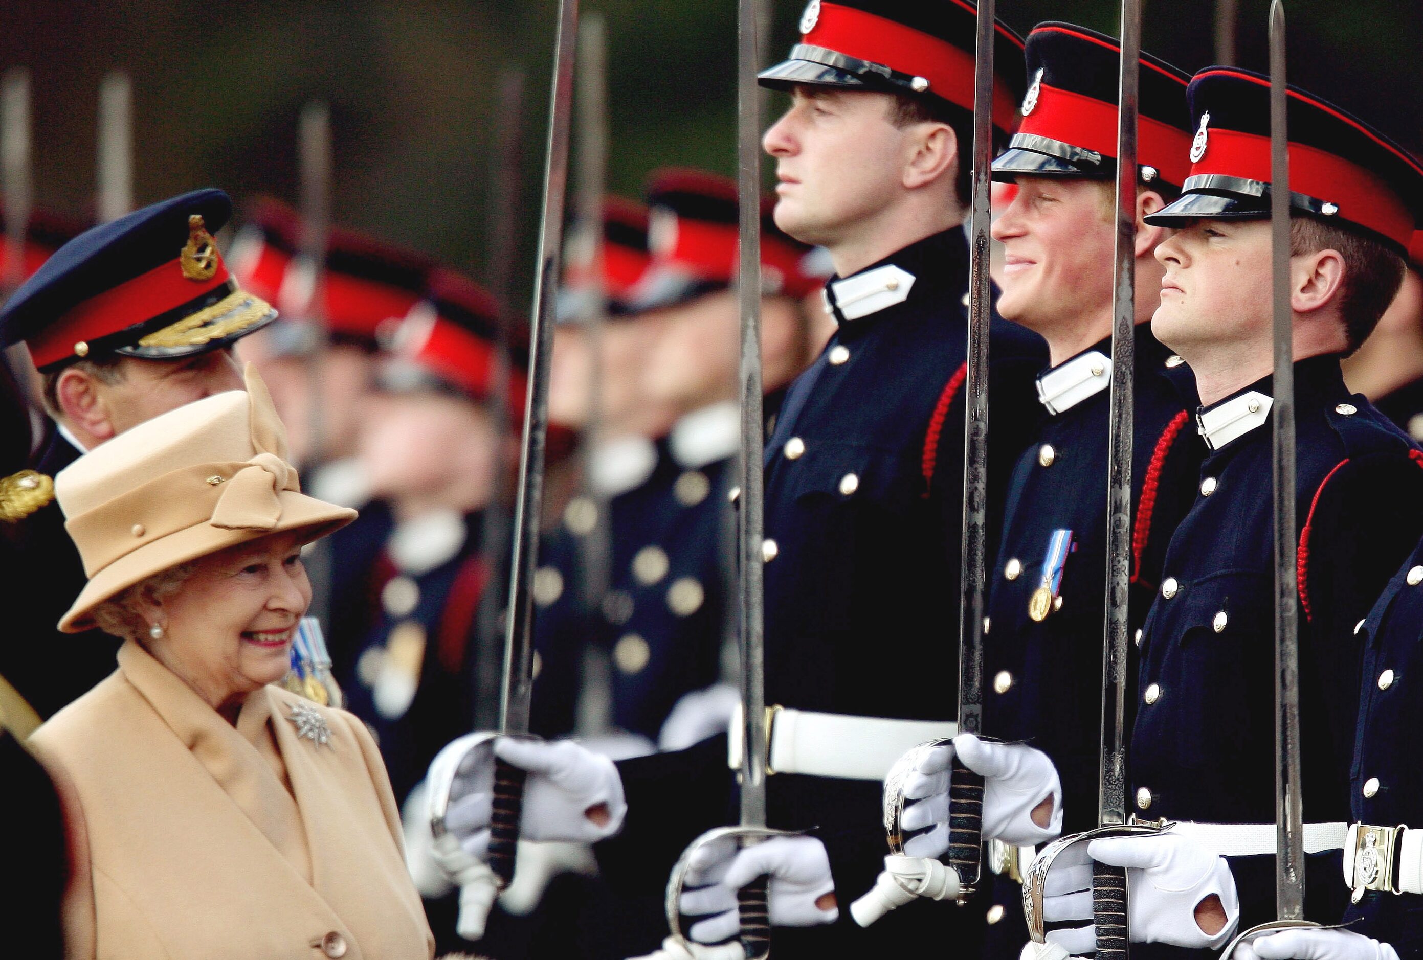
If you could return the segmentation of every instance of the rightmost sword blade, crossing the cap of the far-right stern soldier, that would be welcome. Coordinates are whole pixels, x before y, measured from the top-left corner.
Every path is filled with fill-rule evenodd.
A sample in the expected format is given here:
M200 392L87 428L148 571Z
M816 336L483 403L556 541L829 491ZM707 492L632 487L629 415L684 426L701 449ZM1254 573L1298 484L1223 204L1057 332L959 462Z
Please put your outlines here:
M1299 781L1299 612L1295 555L1295 364L1289 309L1289 128L1285 6L1269 7L1271 243L1275 302L1275 906L1305 917L1305 838Z

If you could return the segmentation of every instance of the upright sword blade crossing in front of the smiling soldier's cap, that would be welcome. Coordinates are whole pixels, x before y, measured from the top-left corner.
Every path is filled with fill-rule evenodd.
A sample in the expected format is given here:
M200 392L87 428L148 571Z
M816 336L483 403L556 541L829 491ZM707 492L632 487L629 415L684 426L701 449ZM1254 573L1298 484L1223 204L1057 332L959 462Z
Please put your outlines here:
M1136 380L1137 104L1141 0L1121 3L1117 98L1117 246L1111 304L1111 401L1107 448L1107 622L1101 658L1101 765L1097 819L1127 822L1127 600L1131 589L1131 439Z

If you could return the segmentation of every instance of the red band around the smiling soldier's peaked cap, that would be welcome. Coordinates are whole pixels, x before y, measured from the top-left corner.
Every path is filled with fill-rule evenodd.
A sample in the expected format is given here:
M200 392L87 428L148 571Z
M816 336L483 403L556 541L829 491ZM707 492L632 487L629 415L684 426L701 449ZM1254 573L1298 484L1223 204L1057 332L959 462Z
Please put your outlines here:
M1063 144L1117 156L1117 105L1040 84L1037 105L1017 129ZM1180 186L1191 175L1191 135L1150 117L1137 117L1137 162L1155 166L1167 183Z

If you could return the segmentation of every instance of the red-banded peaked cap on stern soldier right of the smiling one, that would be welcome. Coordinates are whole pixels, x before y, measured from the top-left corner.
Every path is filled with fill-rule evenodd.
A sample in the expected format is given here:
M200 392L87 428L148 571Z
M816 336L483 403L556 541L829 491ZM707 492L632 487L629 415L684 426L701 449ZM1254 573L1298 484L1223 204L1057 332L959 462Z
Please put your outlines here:
M1269 78L1207 67L1188 95L1191 176L1147 223L1269 219ZM1423 165L1362 119L1289 87L1289 191L1295 215L1360 229L1405 255L1423 215Z

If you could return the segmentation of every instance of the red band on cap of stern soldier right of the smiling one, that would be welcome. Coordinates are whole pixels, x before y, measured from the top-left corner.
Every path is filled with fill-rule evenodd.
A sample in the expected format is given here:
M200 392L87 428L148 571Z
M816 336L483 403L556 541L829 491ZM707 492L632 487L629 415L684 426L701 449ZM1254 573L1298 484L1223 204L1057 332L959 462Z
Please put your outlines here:
M1234 129L1207 131L1205 154L1191 176L1221 174L1269 183L1269 138ZM1407 247L1413 215L1393 189L1358 164L1315 146L1289 144L1289 189L1339 208L1339 219L1358 223Z

